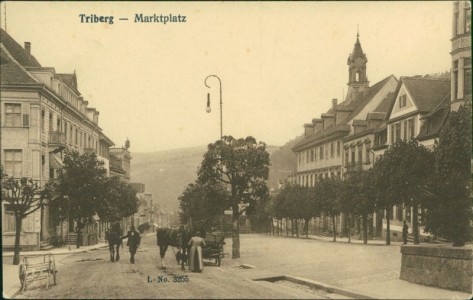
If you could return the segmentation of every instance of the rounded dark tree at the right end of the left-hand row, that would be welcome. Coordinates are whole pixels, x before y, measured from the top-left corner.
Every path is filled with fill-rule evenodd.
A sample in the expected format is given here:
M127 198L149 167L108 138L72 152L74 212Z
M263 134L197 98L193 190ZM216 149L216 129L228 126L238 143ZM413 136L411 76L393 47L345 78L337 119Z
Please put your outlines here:
M139 200L131 184L119 177L108 177L101 185L102 200L97 202L97 214L101 220L115 222L138 211Z

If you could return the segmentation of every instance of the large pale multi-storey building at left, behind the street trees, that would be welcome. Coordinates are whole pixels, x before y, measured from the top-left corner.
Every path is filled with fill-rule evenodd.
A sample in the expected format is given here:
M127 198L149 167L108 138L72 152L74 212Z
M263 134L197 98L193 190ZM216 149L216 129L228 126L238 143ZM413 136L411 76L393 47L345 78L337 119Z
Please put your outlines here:
M99 126L99 112L79 92L75 72L60 74L41 66L30 43L22 47L4 30L0 33L0 152L5 172L44 186L57 177L65 149L95 151L108 169L113 142ZM37 249L68 229L45 206L23 221L22 249ZM2 202L3 248L13 247L14 233L13 215Z

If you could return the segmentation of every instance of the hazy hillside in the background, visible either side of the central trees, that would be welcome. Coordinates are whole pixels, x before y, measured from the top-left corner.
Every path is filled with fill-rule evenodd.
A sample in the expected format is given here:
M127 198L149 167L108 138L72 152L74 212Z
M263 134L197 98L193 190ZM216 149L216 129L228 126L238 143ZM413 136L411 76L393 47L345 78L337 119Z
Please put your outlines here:
M277 189L278 181L296 169L296 156L291 148L300 137L282 147L267 146L270 154L269 188ZM174 150L131 153L131 182L145 184L146 193L153 194L153 202L167 212L178 210L178 197L185 187L197 179L197 169L207 146Z

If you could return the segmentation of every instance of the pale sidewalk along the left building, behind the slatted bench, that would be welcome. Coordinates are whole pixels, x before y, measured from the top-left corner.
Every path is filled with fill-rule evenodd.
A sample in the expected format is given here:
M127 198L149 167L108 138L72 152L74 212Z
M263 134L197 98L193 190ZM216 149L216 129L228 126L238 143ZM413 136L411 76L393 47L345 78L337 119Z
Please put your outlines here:
M24 251L20 252L20 262L24 256L28 257L39 257L48 253L53 255L67 255L81 252L94 251L99 248L108 247L108 244L105 242L99 242L96 245L91 246L81 246L79 249L75 245L63 246L60 248L54 248L49 250L40 250L40 251ZM21 288L19 275L19 266L13 265L13 251L4 251L2 253L2 277L3 277L3 298L12 298L14 297Z

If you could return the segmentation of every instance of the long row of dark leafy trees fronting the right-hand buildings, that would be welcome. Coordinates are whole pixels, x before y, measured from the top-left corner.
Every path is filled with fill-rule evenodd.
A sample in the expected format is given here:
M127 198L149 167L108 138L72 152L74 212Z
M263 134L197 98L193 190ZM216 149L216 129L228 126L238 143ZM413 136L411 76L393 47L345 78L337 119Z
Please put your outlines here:
M394 205L412 208L414 243L419 243L419 219L426 232L462 246L471 239L471 107L452 111L433 151L417 141L397 141L367 171L352 172L344 180L324 178L315 187L286 185L271 201L276 218L304 219L344 213L361 217L367 243L368 216ZM419 218L420 209L425 211ZM390 244L390 218L386 218L386 244ZM336 240L336 228L334 241Z

